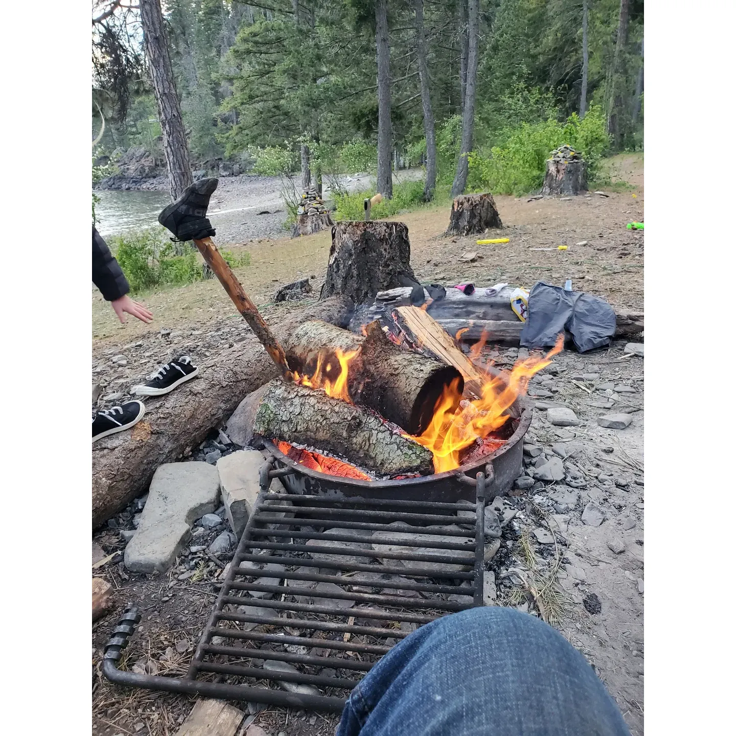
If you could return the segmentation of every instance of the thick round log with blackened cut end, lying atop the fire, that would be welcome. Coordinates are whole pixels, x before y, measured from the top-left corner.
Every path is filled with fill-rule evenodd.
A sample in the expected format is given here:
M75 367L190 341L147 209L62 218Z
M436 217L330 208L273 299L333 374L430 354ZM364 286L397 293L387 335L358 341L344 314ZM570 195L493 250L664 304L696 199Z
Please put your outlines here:
M319 320L304 322L286 336L283 345L289 365L306 375L314 374L321 355L323 366L330 361L330 372L336 376L340 366L335 351L353 353L347 378L350 398L378 411L408 434L425 431L437 399L453 381L458 381L459 394L463 390L456 367L392 343L378 320L366 326L365 336ZM323 375L327 375L324 369Z

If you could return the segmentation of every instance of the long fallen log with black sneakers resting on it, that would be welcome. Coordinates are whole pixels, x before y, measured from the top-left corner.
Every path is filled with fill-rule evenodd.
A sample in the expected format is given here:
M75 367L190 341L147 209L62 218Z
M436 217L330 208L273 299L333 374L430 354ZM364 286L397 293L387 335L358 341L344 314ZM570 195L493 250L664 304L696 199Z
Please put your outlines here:
M344 325L352 311L350 300L335 297L292 313L273 331L282 340L305 319ZM93 528L146 492L160 464L188 456L246 394L279 373L261 343L248 336L200 365L201 380L189 381L166 396L146 399L146 416L141 422L92 446Z

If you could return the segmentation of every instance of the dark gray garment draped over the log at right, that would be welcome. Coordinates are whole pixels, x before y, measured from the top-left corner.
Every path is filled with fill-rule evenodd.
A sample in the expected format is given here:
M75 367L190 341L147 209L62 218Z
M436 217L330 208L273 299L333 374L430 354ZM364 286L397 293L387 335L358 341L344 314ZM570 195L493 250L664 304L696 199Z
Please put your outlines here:
M549 347L567 330L580 353L610 344L616 331L611 305L581 291L565 291L537 281L529 293L528 317L521 330L523 347Z

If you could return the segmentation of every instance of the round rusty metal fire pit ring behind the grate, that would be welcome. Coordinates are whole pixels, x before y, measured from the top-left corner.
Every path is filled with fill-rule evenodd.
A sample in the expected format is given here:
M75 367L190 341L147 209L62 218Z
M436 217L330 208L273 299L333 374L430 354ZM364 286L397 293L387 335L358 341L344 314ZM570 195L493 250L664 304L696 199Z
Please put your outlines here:
M299 495L366 496L453 503L459 499L475 500L475 474L481 471L494 478L488 490L489 498L492 498L492 495L508 492L514 480L523 473L522 445L531 424L531 407L521 397L514 406L521 416L506 422L512 433L498 449L454 470L417 478L370 481L331 475L291 459L279 449L278 442L264 440L263 445L271 453L274 467L286 471L280 474L283 485L289 492ZM489 472L489 466L492 467L492 473Z

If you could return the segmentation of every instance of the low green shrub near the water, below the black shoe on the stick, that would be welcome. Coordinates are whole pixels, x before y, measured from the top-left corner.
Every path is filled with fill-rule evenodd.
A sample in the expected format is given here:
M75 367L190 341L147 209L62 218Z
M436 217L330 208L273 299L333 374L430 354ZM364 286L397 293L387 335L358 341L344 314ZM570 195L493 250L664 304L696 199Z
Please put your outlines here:
M132 294L165 284L181 285L202 280L202 265L197 253L187 246L183 255L175 255L163 227L113 236L110 244Z

